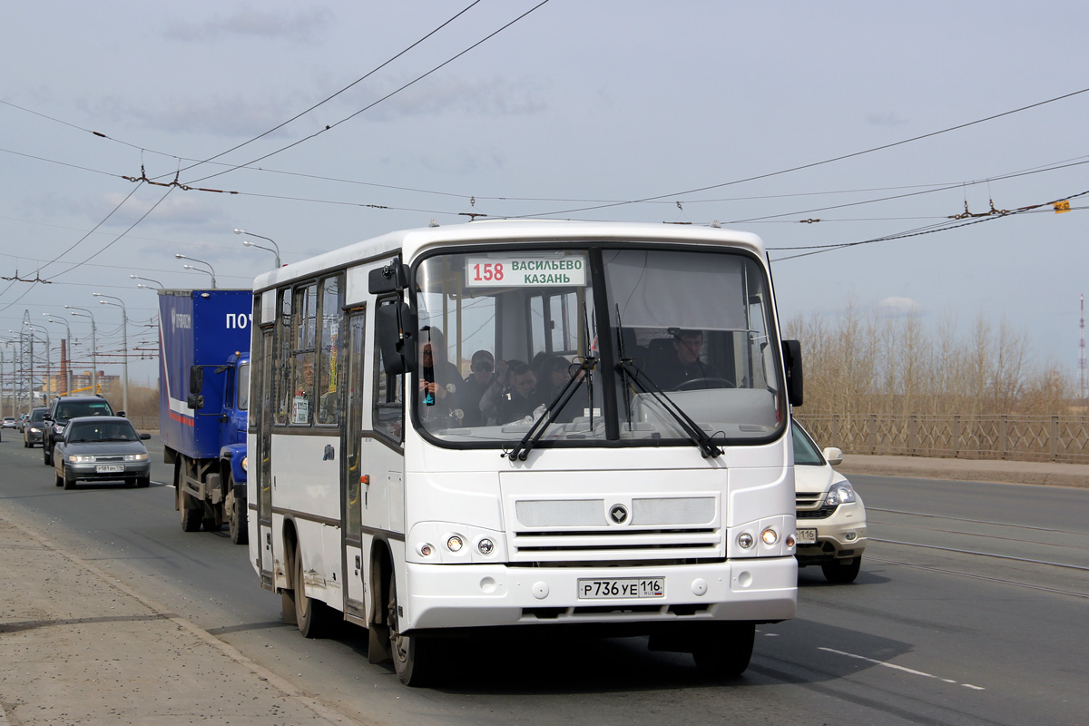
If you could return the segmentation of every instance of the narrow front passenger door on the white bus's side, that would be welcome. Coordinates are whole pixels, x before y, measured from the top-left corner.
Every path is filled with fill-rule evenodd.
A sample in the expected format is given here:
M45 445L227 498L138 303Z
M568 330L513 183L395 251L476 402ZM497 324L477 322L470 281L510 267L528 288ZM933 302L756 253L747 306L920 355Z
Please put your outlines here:
M365 378L366 310L350 310L347 335L343 341L343 356L347 365L342 368L346 380L340 386L341 410L346 413L341 427L341 521L344 527L344 614L348 618L366 620L363 573L363 490L367 476L362 464L360 436L363 435L363 399L367 391ZM369 483L369 482L368 482Z

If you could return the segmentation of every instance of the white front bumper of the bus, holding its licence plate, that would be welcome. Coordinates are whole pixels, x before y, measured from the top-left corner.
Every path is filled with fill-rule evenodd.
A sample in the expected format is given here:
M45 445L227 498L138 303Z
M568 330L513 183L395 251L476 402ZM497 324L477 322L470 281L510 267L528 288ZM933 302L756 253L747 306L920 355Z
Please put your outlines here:
M608 568L408 563L406 577L405 631L562 623L771 623L794 617L797 607L793 556ZM594 596L594 591L623 592L625 587L652 591L649 581L657 580L662 580L661 595Z

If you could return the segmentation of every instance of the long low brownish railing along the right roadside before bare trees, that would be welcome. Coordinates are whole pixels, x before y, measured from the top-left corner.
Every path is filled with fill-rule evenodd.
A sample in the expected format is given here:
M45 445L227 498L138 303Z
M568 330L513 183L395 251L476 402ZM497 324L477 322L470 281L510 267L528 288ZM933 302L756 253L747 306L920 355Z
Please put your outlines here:
M847 454L1089 464L1089 416L795 417Z

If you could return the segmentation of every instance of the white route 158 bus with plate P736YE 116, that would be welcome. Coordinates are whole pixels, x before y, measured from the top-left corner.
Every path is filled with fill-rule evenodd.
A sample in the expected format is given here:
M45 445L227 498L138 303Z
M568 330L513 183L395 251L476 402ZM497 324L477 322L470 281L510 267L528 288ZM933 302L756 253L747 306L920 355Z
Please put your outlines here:
M800 354L755 235L432 223L261 275L253 329L250 561L305 636L364 626L411 686L481 628L736 675L794 616Z

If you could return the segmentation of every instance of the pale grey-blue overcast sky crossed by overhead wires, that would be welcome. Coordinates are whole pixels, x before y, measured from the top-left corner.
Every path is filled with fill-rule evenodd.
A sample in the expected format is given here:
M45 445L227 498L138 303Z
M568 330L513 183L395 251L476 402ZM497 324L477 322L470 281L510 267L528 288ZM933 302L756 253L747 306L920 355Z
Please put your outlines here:
M249 286L273 257L235 227L290 263L467 213L719 220L772 249L784 319L855 305L967 333L983 313L1076 373L1085 2L538 2L3 3L0 275L50 284L0 281L0 331L28 311L56 347L44 313L74 305L117 354L100 292L152 356L156 296L130 274L208 285L180 253ZM1043 206L797 256L992 200ZM89 320L66 320L86 359Z

